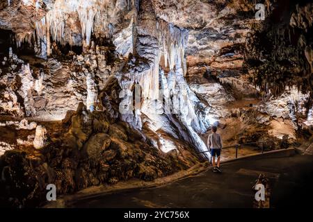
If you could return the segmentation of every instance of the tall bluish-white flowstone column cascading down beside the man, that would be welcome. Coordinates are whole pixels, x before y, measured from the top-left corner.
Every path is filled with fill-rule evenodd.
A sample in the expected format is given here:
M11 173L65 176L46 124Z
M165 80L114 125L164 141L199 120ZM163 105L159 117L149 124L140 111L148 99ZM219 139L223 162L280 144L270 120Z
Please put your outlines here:
M157 38L149 35L138 37L137 52L149 61L148 67L141 64L134 67L135 61L129 62L129 73L120 78L122 107L133 108L134 84L141 87L141 108L122 114L124 121L136 128L141 128L140 114L149 118L150 128L164 130L173 137L183 137L191 142L199 151L207 148L198 136L209 128L208 110L199 101L186 83L186 58L184 50L188 42L188 31L168 24L161 19L157 21ZM134 60L134 59L133 59ZM160 62L169 68L168 74L160 71ZM136 92L135 92L136 94ZM164 103L163 103L164 101ZM175 120L176 119L176 120ZM134 124L135 123L135 124ZM179 128L179 133L173 130ZM159 135L160 136L160 135ZM161 150L170 151L175 146L160 137Z

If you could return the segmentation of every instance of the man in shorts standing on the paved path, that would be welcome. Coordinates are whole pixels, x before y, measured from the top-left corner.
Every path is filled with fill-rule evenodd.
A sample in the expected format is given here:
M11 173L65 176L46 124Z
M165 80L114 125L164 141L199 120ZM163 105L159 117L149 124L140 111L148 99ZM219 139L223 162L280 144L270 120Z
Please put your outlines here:
M207 138L207 147L211 151L214 173L221 173L222 171L220 170L220 151L222 151L222 138L218 133L216 133L216 126L212 126L211 130L213 133L211 133ZM218 158L217 163L215 163L216 157Z

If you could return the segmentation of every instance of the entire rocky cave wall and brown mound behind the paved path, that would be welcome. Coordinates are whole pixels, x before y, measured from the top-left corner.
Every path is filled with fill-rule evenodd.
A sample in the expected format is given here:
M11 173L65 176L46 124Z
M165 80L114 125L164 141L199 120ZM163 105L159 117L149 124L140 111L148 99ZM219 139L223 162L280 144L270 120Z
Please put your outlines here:
M311 141L312 3L284 2L1 1L0 204L194 167L212 125Z

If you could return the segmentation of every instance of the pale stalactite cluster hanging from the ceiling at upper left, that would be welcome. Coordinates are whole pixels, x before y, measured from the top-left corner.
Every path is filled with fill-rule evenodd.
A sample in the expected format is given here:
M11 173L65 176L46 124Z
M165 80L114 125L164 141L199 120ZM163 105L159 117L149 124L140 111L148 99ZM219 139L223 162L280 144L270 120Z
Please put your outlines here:
M104 33L113 34L113 25L109 23L108 6L110 1L100 0L56 0L53 8L47 12L40 22L35 24L37 36L43 38L44 35L50 35L51 39L61 44L70 44L71 46L82 46L88 49L90 38L93 33L94 23L103 24ZM125 7L134 8L138 6L138 0L125 1ZM72 35L68 31L67 21L70 17L78 17L81 24L81 37ZM99 27L98 27L99 28ZM65 30L66 29L66 30ZM99 37L99 33L95 33ZM49 37L50 39L50 37ZM49 39L47 38L47 50L49 51ZM47 51L47 55L50 52Z

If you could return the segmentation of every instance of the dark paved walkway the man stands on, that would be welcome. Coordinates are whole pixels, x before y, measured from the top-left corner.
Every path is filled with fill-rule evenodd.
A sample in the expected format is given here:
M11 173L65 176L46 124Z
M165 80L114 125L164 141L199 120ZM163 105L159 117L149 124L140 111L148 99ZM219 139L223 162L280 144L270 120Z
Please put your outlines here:
M162 187L72 200L67 207L252 207L259 173L271 187L271 207L301 207L312 199L313 155L241 159Z

